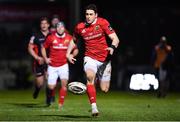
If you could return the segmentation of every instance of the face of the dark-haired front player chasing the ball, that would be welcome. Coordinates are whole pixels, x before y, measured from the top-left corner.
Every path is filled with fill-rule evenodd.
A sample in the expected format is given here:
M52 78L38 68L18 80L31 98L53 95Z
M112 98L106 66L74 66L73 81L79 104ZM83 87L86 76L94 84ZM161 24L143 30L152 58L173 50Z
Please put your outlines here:
M94 10L86 10L86 22L91 24L97 18L97 13Z

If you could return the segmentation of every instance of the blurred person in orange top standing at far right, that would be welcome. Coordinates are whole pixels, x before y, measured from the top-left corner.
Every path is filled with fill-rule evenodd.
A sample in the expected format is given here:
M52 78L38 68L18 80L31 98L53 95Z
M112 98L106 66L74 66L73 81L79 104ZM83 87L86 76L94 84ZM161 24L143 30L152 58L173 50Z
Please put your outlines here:
M172 46L167 44L165 36L155 45L152 55L152 63L159 81L158 96L165 97L172 79L173 51Z

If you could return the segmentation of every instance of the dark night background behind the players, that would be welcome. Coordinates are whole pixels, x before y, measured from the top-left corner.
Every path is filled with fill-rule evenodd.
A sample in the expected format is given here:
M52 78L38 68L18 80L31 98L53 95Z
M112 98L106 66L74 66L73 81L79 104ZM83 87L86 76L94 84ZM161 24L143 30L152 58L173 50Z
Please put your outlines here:
M99 16L111 23L120 39L112 61L112 88L128 90L131 74L151 73L152 48L165 35L175 56L170 89L180 89L180 8L178 2L168 0L0 0L0 88L32 86L27 43L41 16L60 15L72 33L74 25L84 20L83 8L89 3L97 5ZM81 62L73 67L71 80L82 80Z

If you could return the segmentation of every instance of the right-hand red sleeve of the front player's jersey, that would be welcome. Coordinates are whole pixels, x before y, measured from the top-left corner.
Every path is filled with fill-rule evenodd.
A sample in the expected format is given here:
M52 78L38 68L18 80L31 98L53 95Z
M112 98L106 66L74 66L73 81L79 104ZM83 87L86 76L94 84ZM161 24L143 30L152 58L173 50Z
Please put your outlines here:
M106 19L102 19L100 21L100 24L101 24L101 28L107 35L115 32L114 29L111 27L110 23Z

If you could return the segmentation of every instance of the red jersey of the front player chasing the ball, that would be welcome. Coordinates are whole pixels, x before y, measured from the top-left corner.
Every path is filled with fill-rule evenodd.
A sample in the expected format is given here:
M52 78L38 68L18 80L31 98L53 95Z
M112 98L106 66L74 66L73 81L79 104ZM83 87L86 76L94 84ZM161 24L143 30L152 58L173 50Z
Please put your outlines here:
M98 61L104 61L108 51L105 50L108 45L106 42L106 34L112 34L114 30L109 22L98 17L95 22L87 26L85 22L79 23L75 27L74 36L81 36L85 41L85 56L89 56Z

